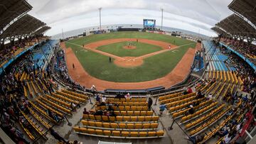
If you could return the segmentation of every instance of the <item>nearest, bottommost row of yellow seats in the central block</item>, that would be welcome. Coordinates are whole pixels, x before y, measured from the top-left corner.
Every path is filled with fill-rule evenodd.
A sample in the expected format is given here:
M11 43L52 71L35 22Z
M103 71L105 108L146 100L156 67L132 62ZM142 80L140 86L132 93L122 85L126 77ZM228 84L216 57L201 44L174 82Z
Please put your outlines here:
M101 130L101 129L95 129L95 128L80 128L78 126L75 126L73 128L76 133L80 134L88 134L88 135L105 135L107 137L125 137L125 138L131 138L131 137L162 137L164 136L164 131L110 131L110 130Z

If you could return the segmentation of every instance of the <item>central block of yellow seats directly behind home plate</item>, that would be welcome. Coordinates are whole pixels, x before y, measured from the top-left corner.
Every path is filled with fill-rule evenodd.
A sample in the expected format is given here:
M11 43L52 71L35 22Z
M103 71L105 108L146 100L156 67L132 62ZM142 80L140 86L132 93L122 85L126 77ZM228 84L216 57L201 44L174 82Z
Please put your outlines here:
M107 99L117 116L97 116L84 114L82 125L75 126L75 133L107 138L161 138L164 131L159 130L159 116L147 111L146 98ZM96 106L91 113L106 110L108 106Z

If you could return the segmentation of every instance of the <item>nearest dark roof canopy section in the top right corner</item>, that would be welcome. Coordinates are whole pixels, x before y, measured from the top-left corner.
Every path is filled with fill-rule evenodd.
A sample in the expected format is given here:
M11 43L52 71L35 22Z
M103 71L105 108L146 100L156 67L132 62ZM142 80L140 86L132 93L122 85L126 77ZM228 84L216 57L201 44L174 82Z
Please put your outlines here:
M234 12L240 13L247 18L250 22L256 25L256 2L255 0L234 0L228 8Z

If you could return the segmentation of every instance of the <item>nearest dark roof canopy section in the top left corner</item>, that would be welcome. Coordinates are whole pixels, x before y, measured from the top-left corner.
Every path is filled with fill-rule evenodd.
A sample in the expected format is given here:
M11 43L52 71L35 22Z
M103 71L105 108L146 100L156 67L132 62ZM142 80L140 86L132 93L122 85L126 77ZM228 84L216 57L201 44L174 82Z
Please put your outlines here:
M1 0L0 1L0 31L4 29L14 18L32 9L25 0Z

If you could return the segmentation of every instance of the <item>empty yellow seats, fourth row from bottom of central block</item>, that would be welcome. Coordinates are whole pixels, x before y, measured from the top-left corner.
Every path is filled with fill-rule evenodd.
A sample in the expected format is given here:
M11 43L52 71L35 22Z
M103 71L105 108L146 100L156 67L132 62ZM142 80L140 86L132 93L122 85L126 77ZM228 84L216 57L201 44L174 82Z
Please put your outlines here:
M152 116L153 111L114 111L117 116Z

